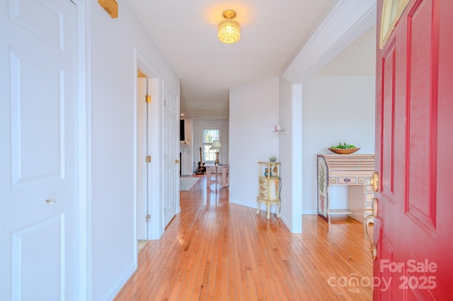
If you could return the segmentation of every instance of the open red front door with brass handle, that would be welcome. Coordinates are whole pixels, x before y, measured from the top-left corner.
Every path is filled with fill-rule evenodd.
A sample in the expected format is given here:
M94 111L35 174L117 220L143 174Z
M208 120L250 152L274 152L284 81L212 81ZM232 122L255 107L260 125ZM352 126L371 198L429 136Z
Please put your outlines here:
M378 34L374 300L453 300L452 16L411 0L382 50Z

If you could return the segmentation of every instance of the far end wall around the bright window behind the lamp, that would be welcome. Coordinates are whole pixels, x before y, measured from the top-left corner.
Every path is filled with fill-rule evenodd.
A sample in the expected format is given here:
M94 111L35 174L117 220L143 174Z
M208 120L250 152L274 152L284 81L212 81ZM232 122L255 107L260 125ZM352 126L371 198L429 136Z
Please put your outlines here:
M193 120L193 161L198 163L200 161L200 147L203 147L203 129L205 128L219 128L220 137L219 141L222 144L222 149L219 150L219 163L229 163L229 122L228 120ZM205 161L203 159L203 161ZM193 163L192 163L193 164Z

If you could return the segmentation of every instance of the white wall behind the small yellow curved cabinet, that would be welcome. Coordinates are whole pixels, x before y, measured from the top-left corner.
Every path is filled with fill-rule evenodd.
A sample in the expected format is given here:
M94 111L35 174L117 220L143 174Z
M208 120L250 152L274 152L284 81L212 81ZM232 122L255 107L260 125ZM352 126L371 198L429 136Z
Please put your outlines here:
M229 200L256 208L258 161L280 159L279 79L273 77L229 92ZM275 206L273 206L275 212Z

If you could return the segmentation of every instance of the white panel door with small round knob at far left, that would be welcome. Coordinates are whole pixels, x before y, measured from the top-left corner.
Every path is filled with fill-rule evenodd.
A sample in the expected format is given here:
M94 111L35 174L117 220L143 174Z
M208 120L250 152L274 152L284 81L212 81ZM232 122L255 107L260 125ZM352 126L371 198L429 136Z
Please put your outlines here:
M0 1L0 299L76 300L76 6Z

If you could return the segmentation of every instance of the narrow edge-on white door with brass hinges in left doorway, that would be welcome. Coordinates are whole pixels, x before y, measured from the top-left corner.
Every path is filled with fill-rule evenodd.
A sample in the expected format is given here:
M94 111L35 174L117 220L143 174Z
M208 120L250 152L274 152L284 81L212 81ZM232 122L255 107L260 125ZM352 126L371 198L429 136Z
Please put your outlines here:
M148 103L146 96L148 82L146 77L137 79L137 239L148 239Z

